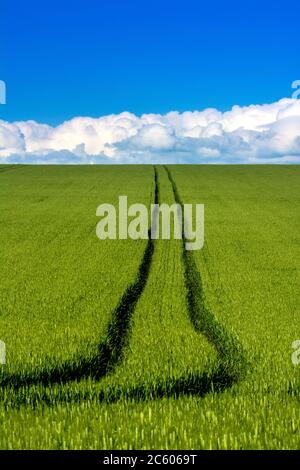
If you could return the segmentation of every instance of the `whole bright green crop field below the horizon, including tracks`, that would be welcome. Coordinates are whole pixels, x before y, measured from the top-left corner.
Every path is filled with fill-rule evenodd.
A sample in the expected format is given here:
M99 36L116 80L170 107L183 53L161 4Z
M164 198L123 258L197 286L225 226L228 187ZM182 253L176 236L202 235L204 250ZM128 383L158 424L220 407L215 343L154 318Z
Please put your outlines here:
M1 166L0 448L300 448L300 168L155 171ZM204 203L204 249L99 241L119 195Z

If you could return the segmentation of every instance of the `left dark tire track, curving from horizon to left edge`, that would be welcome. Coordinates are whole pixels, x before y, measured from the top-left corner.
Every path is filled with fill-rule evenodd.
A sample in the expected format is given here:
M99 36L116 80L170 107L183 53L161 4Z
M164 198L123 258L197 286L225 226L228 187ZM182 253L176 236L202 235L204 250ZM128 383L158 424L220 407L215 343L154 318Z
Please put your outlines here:
M159 201L159 186L157 170L154 171L154 202ZM59 365L49 366L39 371L22 371L5 374L0 372L0 386L20 388L27 385L52 385L69 381L79 381L84 378L100 379L113 372L121 362L128 344L130 323L136 304L146 286L154 252L154 242L151 239L151 227L148 231L148 241L136 280L130 284L121 297L117 307L112 312L105 339L98 345L94 353L72 358Z

